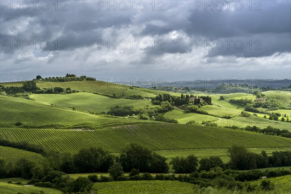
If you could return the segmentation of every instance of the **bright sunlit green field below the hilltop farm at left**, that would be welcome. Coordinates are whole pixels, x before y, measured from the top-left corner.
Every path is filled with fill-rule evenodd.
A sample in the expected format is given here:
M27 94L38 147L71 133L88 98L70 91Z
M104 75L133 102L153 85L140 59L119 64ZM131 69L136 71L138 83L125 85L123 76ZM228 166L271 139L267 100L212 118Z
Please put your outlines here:
M74 94L32 94L31 98L44 104L58 107L75 107L82 108L84 111L109 111L111 107L132 105L135 108L151 105L150 100L130 100L130 99L115 99L92 93L79 92Z

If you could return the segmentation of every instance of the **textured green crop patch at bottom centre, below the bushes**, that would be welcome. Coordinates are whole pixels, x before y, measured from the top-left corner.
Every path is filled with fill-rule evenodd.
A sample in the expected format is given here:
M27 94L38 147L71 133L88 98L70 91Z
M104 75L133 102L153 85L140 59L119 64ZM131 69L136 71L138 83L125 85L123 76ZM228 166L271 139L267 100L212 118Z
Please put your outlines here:
M178 181L120 181L96 183L98 194L193 194L193 184Z

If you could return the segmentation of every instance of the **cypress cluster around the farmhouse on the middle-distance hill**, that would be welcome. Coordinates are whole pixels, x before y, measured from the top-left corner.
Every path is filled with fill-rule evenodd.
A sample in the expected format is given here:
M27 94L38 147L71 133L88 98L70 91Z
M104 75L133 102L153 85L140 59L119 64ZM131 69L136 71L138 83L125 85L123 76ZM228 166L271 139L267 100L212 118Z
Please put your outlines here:
M193 100L192 100L193 99ZM201 100L202 99L202 100ZM182 106L188 104L211 104L211 97L209 96L194 96L181 94L180 97L175 97L169 94L160 94L159 96L152 97L153 104L161 104L162 102L169 102L173 106Z

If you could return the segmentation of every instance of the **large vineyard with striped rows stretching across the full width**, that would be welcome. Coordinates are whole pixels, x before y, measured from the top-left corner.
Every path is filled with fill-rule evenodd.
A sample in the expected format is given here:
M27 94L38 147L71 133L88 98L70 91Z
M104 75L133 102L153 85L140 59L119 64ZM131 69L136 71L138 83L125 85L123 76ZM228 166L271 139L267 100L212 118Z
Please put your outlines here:
M99 146L120 152L129 143L152 150L203 148L290 147L291 139L246 131L179 124L149 124L99 130L8 129L1 128L0 138L27 141L60 152L76 153L82 147Z

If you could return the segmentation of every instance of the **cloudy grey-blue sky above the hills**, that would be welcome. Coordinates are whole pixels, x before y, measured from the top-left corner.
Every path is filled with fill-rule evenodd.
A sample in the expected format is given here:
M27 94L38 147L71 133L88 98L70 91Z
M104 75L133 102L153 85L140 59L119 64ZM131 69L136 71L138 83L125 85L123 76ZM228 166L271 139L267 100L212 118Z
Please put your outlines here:
M290 0L0 0L1 82L291 79Z

